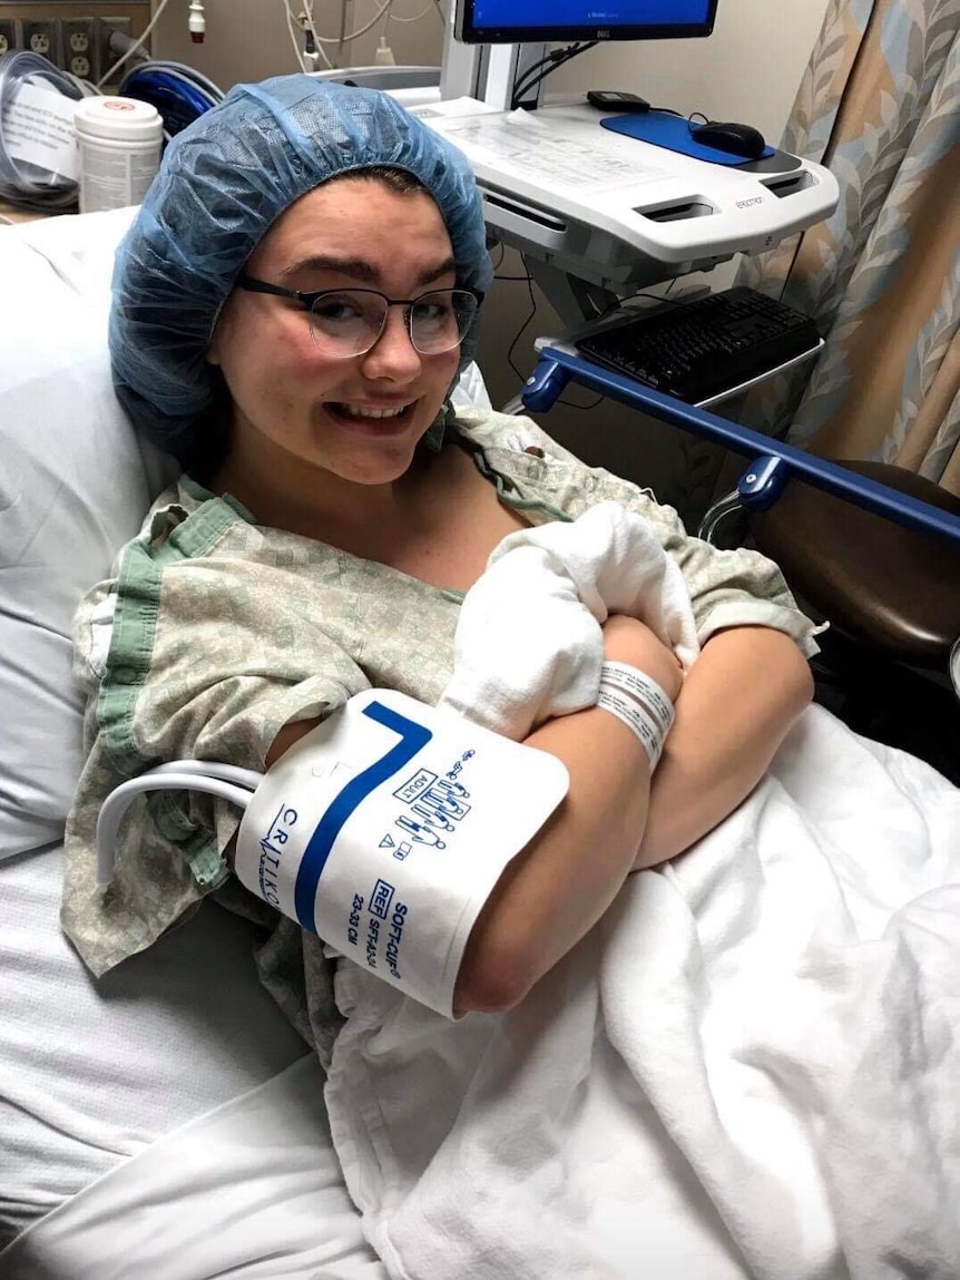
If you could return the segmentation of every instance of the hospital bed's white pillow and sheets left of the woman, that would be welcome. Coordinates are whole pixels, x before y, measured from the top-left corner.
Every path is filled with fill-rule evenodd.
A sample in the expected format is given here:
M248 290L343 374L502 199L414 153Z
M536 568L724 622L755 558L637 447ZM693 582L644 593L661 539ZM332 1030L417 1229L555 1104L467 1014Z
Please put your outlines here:
M294 1277L330 1265L380 1280L321 1073L257 979L253 927L205 905L97 984L59 931L81 767L70 616L168 479L110 383L110 271L129 218L0 230L0 1275ZM265 1142L242 1155L238 1135L253 1132L282 1158Z

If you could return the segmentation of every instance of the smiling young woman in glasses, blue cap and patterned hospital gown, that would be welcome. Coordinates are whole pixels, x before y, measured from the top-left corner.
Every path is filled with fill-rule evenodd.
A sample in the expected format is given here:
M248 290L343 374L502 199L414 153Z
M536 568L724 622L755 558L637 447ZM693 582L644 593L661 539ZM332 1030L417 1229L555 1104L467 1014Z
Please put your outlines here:
M110 340L134 424L186 470L77 627L92 714L64 924L95 972L205 893L237 892L239 814L179 792L134 810L99 890L110 788L184 756L262 769L369 687L435 703L463 594L517 530L603 500L644 516L682 570L701 652L684 677L643 622L603 627L604 658L675 704L653 776L600 705L527 737L570 790L480 911L457 1012L522 1000L631 869L749 794L806 705L813 627L773 564L687 538L532 424L520 448L516 419L452 412L489 284L466 161L387 96L283 77L234 90L169 147L118 257ZM317 940L256 909L303 948L316 1005ZM325 1039L316 1014L314 1029Z

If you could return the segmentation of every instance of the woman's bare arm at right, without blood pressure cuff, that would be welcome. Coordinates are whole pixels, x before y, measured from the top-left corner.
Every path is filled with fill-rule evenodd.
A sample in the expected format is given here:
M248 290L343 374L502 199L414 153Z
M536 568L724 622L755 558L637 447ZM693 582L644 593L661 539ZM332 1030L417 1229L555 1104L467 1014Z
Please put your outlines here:
M689 849L753 791L813 696L806 658L769 627L707 641L676 703L634 869Z

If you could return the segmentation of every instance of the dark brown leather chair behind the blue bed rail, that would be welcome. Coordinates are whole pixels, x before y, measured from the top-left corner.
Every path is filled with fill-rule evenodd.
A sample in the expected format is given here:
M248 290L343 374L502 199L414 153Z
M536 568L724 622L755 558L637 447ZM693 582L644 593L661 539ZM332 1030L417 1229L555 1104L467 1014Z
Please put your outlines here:
M960 516L960 498L902 467L838 465ZM713 540L740 507L737 490L714 503L700 536ZM831 623L813 663L818 699L858 732L924 756L960 785L960 543L796 476L773 506L744 509L744 518L803 605Z

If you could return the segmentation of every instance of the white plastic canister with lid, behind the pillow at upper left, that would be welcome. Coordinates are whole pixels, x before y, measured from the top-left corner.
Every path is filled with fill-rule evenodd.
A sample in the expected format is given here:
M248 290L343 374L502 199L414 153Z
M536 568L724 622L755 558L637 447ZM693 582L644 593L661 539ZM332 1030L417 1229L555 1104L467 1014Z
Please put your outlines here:
M164 122L133 97L84 97L74 113L79 210L138 205L160 165Z

